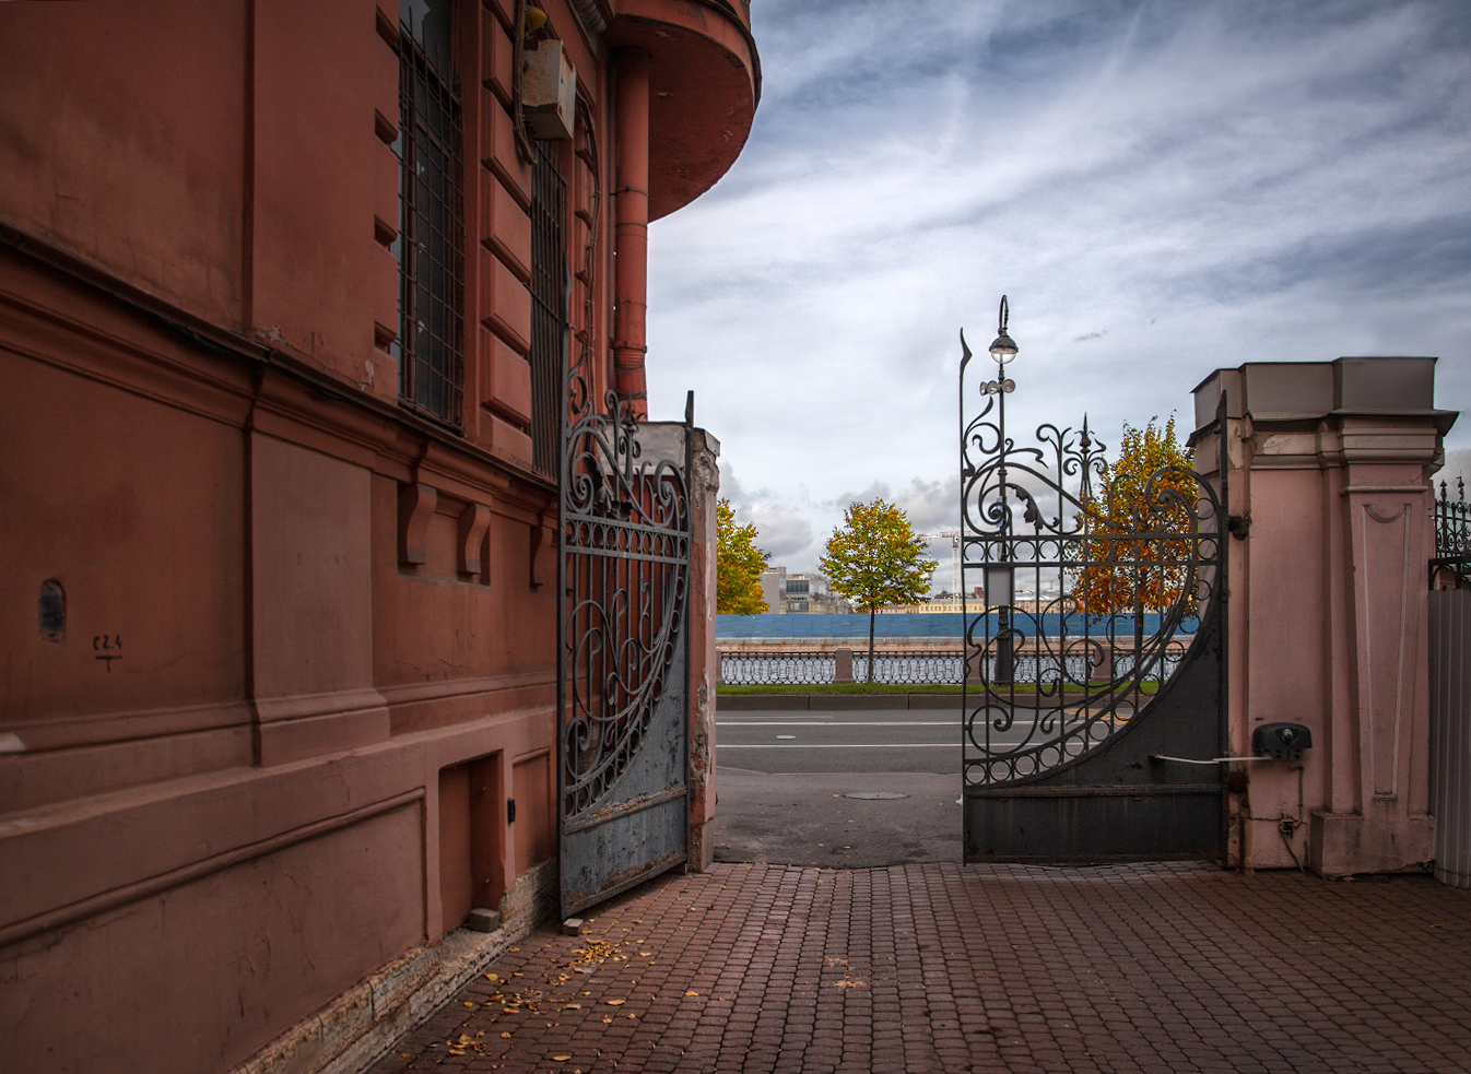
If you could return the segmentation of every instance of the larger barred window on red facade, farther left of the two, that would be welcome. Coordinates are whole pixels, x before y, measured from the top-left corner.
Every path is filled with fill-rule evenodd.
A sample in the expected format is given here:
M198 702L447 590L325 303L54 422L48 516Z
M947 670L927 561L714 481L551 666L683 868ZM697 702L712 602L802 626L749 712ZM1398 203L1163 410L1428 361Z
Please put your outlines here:
M400 402L455 428L465 387L460 97L452 3L403 0L399 19Z

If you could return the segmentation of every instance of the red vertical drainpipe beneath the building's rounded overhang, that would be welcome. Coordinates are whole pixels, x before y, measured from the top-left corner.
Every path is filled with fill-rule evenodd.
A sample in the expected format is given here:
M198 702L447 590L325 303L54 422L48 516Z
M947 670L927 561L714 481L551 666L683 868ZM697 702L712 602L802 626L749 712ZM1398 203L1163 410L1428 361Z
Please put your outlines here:
M644 324L649 310L649 53L619 49L618 174L613 275L613 371L618 394L634 416L649 416Z

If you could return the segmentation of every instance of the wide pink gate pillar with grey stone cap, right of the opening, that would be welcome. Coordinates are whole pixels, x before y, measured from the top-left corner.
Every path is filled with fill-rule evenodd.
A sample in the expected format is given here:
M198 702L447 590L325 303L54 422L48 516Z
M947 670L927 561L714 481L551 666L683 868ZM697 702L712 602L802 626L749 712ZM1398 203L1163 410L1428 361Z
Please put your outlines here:
M1252 761L1230 855L1324 875L1420 868L1428 805L1430 474L1455 412L1433 358L1249 362L1196 390L1196 468L1218 475L1227 399L1231 755L1305 724L1299 765Z

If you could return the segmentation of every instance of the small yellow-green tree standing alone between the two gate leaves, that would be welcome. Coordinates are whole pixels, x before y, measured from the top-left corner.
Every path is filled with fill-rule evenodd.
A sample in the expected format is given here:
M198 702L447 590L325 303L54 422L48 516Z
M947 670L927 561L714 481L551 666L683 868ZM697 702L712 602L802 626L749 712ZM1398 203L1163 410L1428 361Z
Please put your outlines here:
M936 563L915 537L909 516L893 503L855 503L833 531L818 562L833 590L868 611L868 681L874 681L874 614L887 605L918 605Z

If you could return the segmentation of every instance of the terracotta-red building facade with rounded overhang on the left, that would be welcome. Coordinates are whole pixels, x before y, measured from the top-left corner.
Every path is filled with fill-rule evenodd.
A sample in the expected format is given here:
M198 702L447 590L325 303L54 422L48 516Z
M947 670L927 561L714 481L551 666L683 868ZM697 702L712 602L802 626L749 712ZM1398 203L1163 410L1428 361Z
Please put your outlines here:
M552 911L560 371L646 409L749 13L0 31L4 1065L349 1070Z

